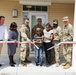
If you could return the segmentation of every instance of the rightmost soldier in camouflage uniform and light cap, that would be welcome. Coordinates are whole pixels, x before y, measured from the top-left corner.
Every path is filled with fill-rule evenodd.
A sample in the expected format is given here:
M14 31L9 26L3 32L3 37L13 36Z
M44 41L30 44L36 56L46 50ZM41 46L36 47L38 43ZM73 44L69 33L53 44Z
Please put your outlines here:
M73 27L69 23L69 18L63 17L63 41L73 41ZM71 66L71 59L72 59L72 44L64 44L63 46L63 55L66 60L65 63L63 63L63 68L68 69Z

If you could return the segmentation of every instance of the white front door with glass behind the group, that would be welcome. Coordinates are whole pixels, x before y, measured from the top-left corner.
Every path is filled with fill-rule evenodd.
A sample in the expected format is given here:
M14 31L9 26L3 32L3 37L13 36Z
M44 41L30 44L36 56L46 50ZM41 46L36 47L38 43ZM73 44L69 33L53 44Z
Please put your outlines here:
M23 18L28 17L30 22L30 33L32 28L37 25L37 19L42 19L42 25L45 27L46 23L48 22L48 14L47 12L29 12L29 13L23 13ZM30 35L31 36L31 35ZM31 37L32 38L32 37ZM31 48L33 50L33 47Z

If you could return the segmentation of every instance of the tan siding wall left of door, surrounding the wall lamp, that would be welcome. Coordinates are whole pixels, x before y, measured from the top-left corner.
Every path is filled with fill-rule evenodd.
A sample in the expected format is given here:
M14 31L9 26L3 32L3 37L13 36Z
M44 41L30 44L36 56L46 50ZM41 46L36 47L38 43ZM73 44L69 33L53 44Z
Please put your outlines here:
M12 17L12 10L17 9L18 10L18 17L13 18ZM6 1L6 0L0 0L0 15L4 15L6 18L5 24L9 27L11 22L16 22L18 25L21 24L21 10L22 7L17 1Z

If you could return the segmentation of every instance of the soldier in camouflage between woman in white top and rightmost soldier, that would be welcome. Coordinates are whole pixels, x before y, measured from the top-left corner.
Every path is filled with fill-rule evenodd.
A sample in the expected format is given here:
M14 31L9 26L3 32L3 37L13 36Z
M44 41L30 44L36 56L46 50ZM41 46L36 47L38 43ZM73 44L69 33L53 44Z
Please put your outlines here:
M58 20L55 19L53 20L53 34L54 34L54 45L58 44L61 41L61 27L58 26ZM56 67L59 66L60 59L59 59L59 51L60 51L60 46L55 47L55 60L56 60Z

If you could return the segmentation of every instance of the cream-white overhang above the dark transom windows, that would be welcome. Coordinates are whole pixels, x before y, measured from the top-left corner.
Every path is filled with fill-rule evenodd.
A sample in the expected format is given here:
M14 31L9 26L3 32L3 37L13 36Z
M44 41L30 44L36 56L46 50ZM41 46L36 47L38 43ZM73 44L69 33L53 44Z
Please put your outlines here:
M20 4L26 5L51 5L51 0L19 0Z

